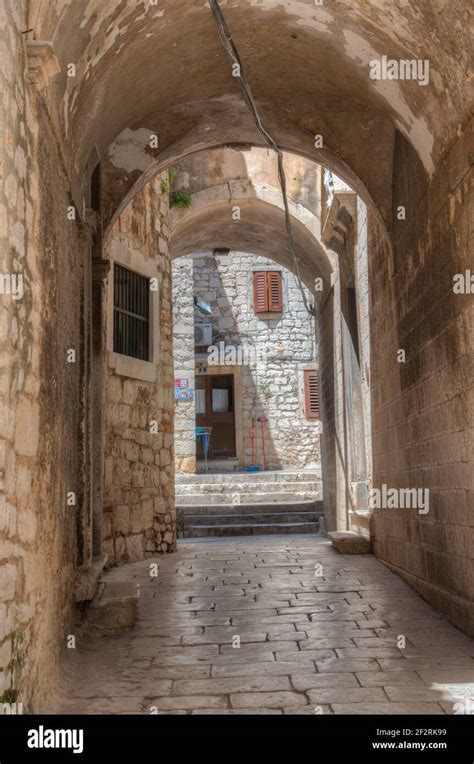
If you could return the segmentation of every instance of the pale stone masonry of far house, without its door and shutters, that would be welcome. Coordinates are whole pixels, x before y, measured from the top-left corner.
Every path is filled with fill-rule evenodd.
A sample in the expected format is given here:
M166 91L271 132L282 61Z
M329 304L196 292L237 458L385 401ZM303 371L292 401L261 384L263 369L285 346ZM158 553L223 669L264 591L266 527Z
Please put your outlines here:
M190 262L191 259L187 259L183 265L178 260L173 264L175 315L179 316L180 330L185 329L182 319L186 317L189 331L192 329L189 324ZM241 466L251 463L253 410L257 417L267 418L266 456L271 468L304 468L318 464L320 423L306 419L303 379L304 369L318 366L315 326L305 310L295 277L271 260L242 252L215 257L196 254L192 262L194 294L212 307L211 318L203 318L196 312L196 322L213 324L216 345L224 342L226 347L240 347L248 352L248 362L241 368L228 367L235 372L239 384L236 437ZM252 273L275 269L282 272L283 312L274 318L261 317L253 309ZM192 338L189 333L188 338ZM183 331L175 335L174 342L175 376L179 377L178 370L190 365L191 345L189 340L185 341ZM205 358L198 366L203 364L207 373L212 373L212 366L206 364ZM180 402L177 416L181 435L176 441L176 451L184 460L195 447L193 402ZM177 462L180 463L182 461Z

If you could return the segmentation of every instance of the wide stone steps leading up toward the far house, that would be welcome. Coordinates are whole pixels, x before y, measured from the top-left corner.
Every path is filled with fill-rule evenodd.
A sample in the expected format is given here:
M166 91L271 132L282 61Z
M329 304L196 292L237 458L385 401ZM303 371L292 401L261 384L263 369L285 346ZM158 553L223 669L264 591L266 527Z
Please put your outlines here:
M176 476L178 538L318 533L320 470Z

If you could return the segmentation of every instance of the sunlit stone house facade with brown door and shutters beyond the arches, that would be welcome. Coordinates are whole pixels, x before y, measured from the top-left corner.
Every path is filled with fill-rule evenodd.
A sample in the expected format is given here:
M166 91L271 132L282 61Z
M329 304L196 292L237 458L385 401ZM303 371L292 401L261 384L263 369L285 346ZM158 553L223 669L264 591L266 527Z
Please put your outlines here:
M203 468L202 428L210 466L318 465L315 320L296 277L265 257L199 253L173 263L173 294L177 472Z

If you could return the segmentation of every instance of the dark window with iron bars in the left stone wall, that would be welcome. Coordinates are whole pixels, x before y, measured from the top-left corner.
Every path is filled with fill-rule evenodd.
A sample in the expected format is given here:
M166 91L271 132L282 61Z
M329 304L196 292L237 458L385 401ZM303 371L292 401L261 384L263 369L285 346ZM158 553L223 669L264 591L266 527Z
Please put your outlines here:
M121 265L114 265L114 352L150 360L150 284Z

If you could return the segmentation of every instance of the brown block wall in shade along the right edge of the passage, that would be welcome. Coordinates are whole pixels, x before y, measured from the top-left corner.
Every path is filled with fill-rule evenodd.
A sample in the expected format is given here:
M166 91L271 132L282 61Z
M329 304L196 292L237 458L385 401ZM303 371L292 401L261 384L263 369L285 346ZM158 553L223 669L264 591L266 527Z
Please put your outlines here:
M427 488L429 513L374 512L376 553L474 633L472 123L427 186L401 138L394 158L395 251L369 230L374 485ZM406 351L405 363L397 351Z

